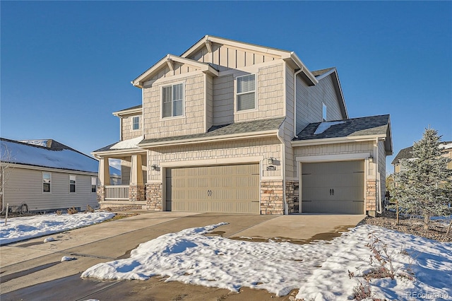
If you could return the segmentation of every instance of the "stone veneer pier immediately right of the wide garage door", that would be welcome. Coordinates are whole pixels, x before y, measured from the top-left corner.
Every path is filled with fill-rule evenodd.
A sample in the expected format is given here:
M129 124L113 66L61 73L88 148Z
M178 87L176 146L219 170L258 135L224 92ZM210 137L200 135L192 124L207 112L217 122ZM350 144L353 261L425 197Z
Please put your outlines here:
M261 214L284 214L283 181L261 182Z

